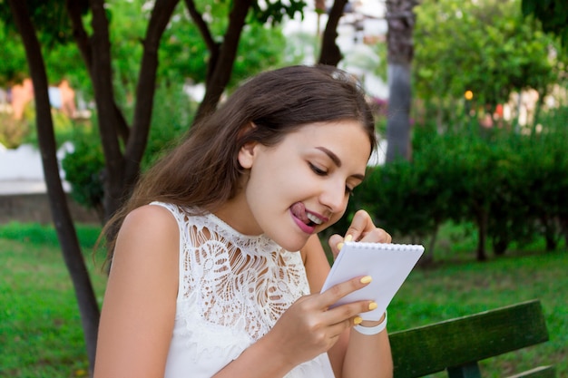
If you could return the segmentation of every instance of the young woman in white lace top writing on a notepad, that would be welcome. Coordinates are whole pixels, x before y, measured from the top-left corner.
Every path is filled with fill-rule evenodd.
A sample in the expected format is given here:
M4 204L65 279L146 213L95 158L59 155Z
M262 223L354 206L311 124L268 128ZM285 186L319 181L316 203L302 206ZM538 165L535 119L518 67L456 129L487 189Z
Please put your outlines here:
M372 301L330 308L372 277L319 293L317 233L344 214L375 146L347 73L294 66L244 83L109 223L94 376L392 376L386 316L362 321ZM390 242L362 210L345 235ZM342 240L329 239L336 255Z

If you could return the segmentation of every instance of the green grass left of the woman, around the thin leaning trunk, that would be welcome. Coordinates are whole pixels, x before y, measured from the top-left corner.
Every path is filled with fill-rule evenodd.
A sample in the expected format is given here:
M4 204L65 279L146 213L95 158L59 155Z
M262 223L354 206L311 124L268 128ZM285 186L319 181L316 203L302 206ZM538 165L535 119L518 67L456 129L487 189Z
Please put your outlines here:
M93 268L99 230L79 227L99 301L105 277ZM77 377L88 373L73 285L53 228L0 227L0 376Z

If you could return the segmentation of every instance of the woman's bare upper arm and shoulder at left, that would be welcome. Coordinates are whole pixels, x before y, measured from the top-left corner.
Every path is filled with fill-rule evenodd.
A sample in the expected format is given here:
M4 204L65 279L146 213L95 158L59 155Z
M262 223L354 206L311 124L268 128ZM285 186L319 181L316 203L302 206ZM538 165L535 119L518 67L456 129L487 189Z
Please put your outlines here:
M179 231L144 206L119 231L103 301L95 378L163 377L178 291Z

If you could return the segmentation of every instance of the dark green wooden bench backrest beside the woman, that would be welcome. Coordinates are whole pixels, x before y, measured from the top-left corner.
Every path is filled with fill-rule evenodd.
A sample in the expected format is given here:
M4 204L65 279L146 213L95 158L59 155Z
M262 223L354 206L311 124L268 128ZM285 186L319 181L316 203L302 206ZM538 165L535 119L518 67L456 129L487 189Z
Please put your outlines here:
M395 378L447 371L450 378L479 378L479 361L544 343L548 331L540 301L533 300L389 335ZM553 378L553 366L518 377Z

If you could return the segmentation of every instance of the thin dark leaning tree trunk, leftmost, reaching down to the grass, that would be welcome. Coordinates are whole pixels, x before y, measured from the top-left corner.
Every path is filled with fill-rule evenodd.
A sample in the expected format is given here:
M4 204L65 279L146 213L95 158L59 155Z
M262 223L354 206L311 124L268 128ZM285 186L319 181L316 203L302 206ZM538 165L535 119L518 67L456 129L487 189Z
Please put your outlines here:
M9 5L14 15L15 24L22 36L25 56L32 81L34 82L35 122L39 147L42 154L47 195L57 237L62 247L65 265L73 281L75 296L77 297L83 324L87 355L92 370L100 312L96 296L94 296L89 273L83 260L81 247L79 247L79 241L73 226L73 219L71 218L71 213L67 206L67 199L61 183L61 177L59 176L59 164L57 161L54 138L54 122L51 116L51 106L47 92L48 81L47 74L45 73L44 57L42 56L40 44L35 34L34 24L32 24L25 2L21 0L10 0Z

